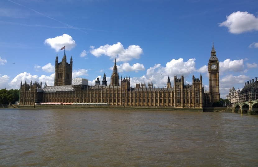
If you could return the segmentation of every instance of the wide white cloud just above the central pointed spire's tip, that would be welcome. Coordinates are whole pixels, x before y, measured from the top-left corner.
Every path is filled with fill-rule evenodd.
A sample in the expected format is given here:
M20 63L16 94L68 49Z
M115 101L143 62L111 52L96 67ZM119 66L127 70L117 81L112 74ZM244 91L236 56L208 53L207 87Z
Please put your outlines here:
M120 42L114 45L104 45L95 49L94 46L90 46L90 53L96 57L101 55L109 56L111 59L117 59L119 61L130 61L131 59L139 59L140 55L143 54L143 50L138 45L130 45L127 49L124 49L123 45Z

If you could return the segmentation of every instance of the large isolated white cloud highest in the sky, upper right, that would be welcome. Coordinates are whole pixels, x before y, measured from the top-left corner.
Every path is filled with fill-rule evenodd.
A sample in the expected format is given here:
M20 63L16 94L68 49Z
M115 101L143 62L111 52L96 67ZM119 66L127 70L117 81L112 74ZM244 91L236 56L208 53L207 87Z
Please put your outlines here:
M225 26L233 34L241 34L248 31L258 30L258 18L248 12L233 12L227 16L227 20L220 23L219 26Z

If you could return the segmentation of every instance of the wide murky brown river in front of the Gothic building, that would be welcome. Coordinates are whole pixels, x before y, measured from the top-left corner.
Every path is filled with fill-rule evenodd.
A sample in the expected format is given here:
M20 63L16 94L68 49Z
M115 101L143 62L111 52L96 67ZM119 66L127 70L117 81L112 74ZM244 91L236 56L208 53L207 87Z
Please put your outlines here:
M0 109L0 166L257 166L258 116Z

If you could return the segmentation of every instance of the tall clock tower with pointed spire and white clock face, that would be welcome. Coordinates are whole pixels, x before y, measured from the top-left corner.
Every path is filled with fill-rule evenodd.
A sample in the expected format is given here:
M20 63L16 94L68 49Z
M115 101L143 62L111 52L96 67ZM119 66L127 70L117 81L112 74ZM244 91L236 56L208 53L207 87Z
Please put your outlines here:
M210 60L208 63L209 71L209 86L210 86L210 106L215 101L219 101L219 60L216 56L216 51L214 49L214 43L212 44Z

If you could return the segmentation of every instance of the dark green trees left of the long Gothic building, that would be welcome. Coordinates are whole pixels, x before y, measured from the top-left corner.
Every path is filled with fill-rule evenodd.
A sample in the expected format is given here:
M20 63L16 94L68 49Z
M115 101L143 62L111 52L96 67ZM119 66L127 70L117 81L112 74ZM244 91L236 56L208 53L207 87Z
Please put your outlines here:
M19 101L19 90L18 89L1 89L0 90L0 104L14 104L15 101Z

